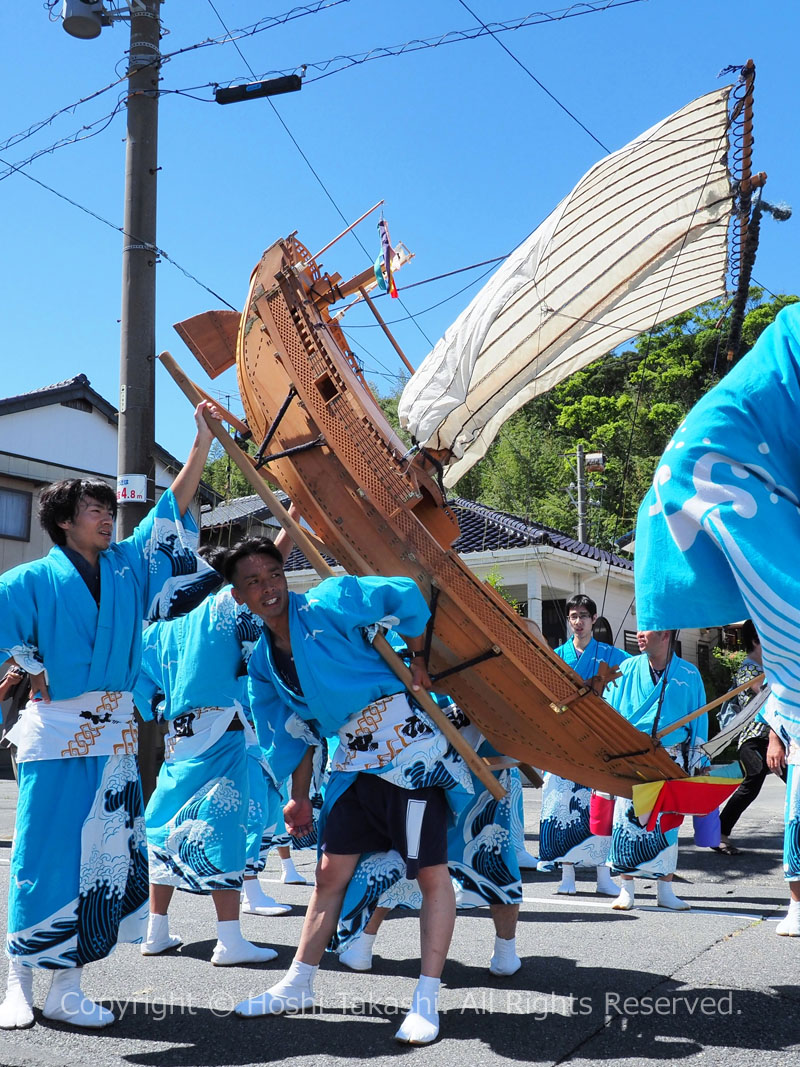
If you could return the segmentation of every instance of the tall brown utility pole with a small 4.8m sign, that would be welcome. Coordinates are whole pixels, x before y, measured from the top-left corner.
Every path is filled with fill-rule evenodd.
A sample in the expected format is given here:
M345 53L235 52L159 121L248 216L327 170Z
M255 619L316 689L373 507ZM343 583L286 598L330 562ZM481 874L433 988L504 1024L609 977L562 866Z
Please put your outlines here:
M125 235L119 347L117 472L146 477L119 500L117 539L128 537L155 501L156 192L161 0L130 5ZM128 490L127 492L129 492ZM119 493L126 492L124 483Z

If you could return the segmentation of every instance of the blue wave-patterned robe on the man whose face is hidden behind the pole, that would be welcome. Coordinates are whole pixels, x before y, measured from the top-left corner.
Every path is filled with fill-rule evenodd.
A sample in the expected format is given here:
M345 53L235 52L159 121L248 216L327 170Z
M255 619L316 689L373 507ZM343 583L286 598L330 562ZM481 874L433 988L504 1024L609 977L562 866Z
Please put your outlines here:
M154 698L163 694L159 712L172 723L145 812L151 882L194 893L238 889L247 844L257 856L267 821L277 818L279 797L261 749L247 747L241 730L225 730L246 699L246 660L260 635L260 620L236 603L229 587L144 635L137 705L150 717ZM214 719L213 743L172 759L176 740L197 742L198 723Z

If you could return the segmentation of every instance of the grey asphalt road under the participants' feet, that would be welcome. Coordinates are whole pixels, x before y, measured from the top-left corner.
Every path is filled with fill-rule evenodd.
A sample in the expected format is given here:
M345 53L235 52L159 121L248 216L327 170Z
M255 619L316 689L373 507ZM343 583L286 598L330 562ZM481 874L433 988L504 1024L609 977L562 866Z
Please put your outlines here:
M0 782L0 880L9 876L14 783ZM528 847L535 851L539 794L525 790ZM593 881L575 897L556 895L555 875L527 873L517 945L523 968L509 978L486 969L493 928L481 909L462 912L445 968L442 1036L426 1049L393 1041L418 972L416 917L398 913L377 942L375 966L356 974L326 959L319 1007L290 1018L241 1020L230 1014L289 965L310 890L277 881L271 857L267 892L294 905L283 919L244 917L245 936L278 951L271 965L214 968L210 901L178 893L172 928L185 940L164 957L122 945L86 968L84 987L118 1022L94 1034L50 1023L37 1013L28 1031L0 1033L0 1065L233 1067L243 1064L381 1067L406 1063L499 1065L781 1064L800 1067L800 939L777 937L785 911L782 877L783 785L767 782L737 830L747 851L724 858L682 831L675 888L689 912L655 905L655 886L637 882L637 908L610 910ZM300 854L310 877L314 858ZM35 981L42 1005L48 983Z

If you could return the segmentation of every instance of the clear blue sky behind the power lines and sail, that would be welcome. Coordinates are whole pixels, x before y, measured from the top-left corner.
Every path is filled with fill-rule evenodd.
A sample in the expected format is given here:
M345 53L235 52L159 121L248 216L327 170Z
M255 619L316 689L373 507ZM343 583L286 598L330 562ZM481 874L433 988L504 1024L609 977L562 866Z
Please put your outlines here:
M230 29L277 15L292 0L213 0ZM485 21L555 12L547 0L468 0ZM564 4L564 0L558 0ZM576 10L579 5L576 5ZM563 9L562 9L563 10ZM223 32L208 0L162 7L164 52ZM459 0L342 0L326 11L245 37L240 48L261 75L302 63L397 46L476 26ZM0 142L107 85L125 69L127 25L96 41L69 37L41 0L4 3ZM752 57L757 65L754 166L769 174L766 196L800 212L797 39L800 7L786 0L643 0L500 35L570 111L615 149L695 96L723 84L717 73ZM309 79L315 71L309 70ZM164 90L251 80L234 45L175 57ZM124 83L4 147L19 163L108 115ZM208 100L209 89L194 94ZM492 37L429 48L307 82L275 99L291 133L340 211L355 219L384 197L394 241L416 258L402 286L508 253L603 155L602 148ZM31 163L27 172L91 207L123 219L124 109L98 136ZM297 229L313 251L343 228L270 103L220 107L170 93L160 103L158 243L178 264L240 306L265 248ZM2 197L3 396L79 372L112 402L118 396L122 235L0 166ZM774 292L800 291L797 219L765 219L755 277ZM371 259L374 220L358 229ZM323 257L343 276L368 258L348 238ZM483 271L419 286L403 296L412 321L394 329L413 364L466 305ZM469 284L473 283L473 284ZM468 288L458 296L457 290ZM452 299L447 299L451 298ZM441 306L430 309L441 301ZM172 265L158 269L157 346L169 348L212 391L236 394L233 371L209 383L172 323L218 302ZM406 313L381 302L388 320ZM349 323L367 319L348 317ZM374 328L352 329L368 376L382 391L398 360ZM238 400L231 405L239 409ZM240 410L240 409L239 409ZM182 457L191 413L158 371L157 439Z

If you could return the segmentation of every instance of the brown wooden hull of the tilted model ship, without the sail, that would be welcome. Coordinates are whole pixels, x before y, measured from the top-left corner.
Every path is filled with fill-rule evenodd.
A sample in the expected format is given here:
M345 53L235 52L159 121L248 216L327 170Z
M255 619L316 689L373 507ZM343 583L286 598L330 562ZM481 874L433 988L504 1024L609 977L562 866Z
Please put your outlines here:
M433 616L435 688L500 752L625 796L637 782L683 777L453 551L459 526L435 462L406 457L329 312L368 274L346 284L323 274L292 235L265 252L241 315L209 312L176 329L211 377L236 363L261 443L255 464L326 551L352 574L414 578Z

